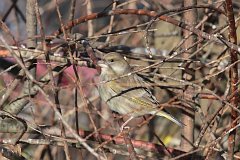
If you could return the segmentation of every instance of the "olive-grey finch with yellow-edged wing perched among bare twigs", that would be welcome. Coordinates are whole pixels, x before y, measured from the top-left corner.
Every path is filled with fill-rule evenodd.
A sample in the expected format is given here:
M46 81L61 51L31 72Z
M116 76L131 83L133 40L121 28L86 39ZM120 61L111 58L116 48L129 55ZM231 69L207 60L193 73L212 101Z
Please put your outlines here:
M109 108L130 118L123 123L121 130L135 117L146 114L165 117L178 126L183 123L171 114L159 109L159 102L146 87L143 78L133 72L132 67L120 53L110 52L98 61L101 68L98 91Z

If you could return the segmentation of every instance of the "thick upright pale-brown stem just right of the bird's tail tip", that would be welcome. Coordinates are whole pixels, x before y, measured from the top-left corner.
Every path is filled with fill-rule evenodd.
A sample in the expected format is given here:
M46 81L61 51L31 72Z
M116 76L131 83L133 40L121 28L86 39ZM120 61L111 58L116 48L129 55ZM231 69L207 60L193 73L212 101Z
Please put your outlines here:
M190 5L196 5L196 0L184 0L184 7L190 6ZM197 10L191 10L189 12L185 12L183 14L183 20L190 24L191 26L195 26L197 24L197 18L198 13ZM186 48L189 48L189 46L192 46L194 43L197 42L196 35L189 36L191 33L187 30L183 30L183 36L188 37L185 39L185 42L183 43L183 50L186 50ZM193 48L189 49L187 52L183 53L183 58L188 58L191 56L191 53L194 53L197 50L197 47L194 46ZM191 56L192 60L194 61L196 59L196 56ZM194 64L191 62L184 64L185 70L182 72L182 79L186 81L194 81L196 79L195 71L194 71ZM193 72L187 72L188 70L193 70ZM186 86L183 90L183 98L185 99L185 94L188 93L194 93L195 88L192 86ZM195 104L193 104L195 105ZM194 107L193 107L194 108ZM194 143L194 126L195 126L195 112L191 110L182 110L182 122L183 124L186 124L185 127L182 128L181 133L181 147L184 151L190 151L193 148Z

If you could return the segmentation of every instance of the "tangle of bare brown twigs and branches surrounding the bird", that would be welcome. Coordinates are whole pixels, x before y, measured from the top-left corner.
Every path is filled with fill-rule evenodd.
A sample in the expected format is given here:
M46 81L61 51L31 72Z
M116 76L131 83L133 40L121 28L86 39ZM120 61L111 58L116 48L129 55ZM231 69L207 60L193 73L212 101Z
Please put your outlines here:
M36 2L0 4L1 159L239 158L238 56L233 58L238 43L229 34L229 13L235 16L239 37L240 1ZM227 9L231 3L233 11ZM154 11L155 16L165 12L167 17L114 12L120 9ZM108 16L69 23L93 13ZM36 26L27 23L31 17ZM169 23L171 18L179 23ZM65 28L56 36L61 24L71 31ZM199 32L188 32L183 24ZM158 101L185 127L146 115L120 133L121 116L109 110L97 91L94 58L111 51L127 57Z

